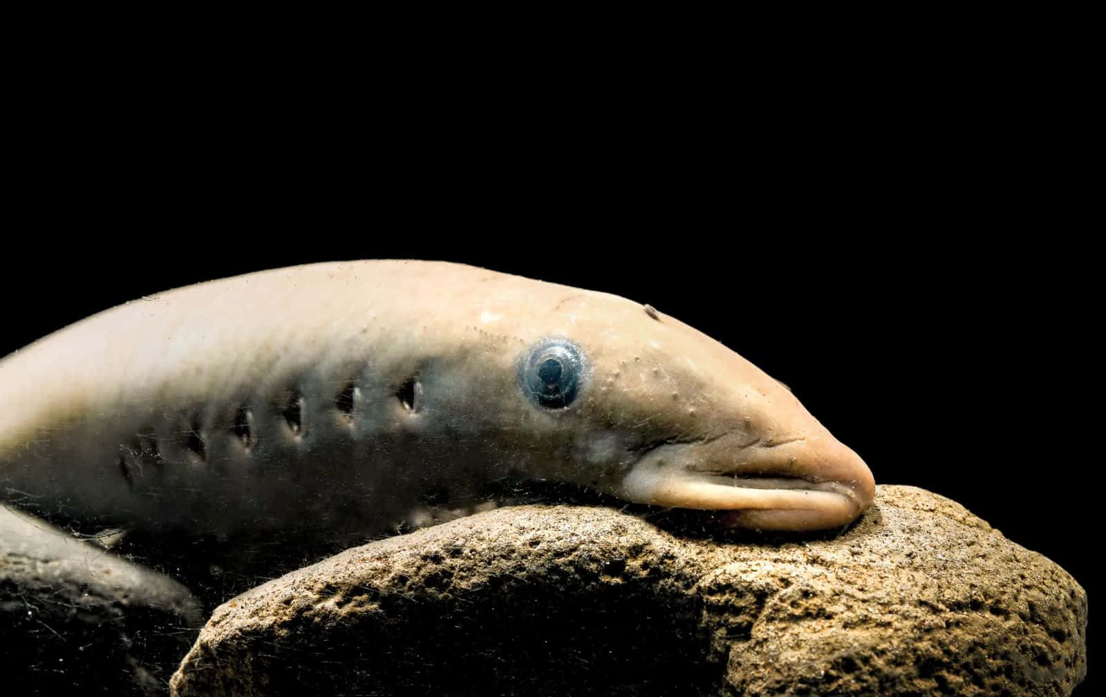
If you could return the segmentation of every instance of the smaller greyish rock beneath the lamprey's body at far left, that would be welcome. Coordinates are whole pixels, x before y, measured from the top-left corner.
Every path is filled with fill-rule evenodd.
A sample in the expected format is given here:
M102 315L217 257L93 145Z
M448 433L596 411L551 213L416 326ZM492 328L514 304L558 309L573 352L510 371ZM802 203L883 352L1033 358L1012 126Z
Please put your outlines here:
M165 695L202 620L176 581L0 506L6 695Z

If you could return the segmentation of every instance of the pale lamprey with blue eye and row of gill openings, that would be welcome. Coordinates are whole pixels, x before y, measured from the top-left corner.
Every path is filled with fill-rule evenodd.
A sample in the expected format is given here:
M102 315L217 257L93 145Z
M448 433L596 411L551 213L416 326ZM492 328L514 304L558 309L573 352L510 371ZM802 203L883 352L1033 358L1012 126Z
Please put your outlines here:
M93 526L374 535L518 477L813 530L875 494L783 384L702 332L451 263L144 297L4 358L0 404L0 500Z

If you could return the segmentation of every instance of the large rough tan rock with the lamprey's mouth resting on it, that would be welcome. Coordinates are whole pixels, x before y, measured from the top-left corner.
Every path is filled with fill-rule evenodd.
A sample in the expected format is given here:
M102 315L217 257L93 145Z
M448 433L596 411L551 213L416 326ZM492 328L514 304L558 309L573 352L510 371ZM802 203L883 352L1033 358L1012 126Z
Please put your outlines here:
M216 610L173 691L971 697L1086 673L1084 590L936 494L883 486L835 538L695 520L525 506L351 549Z

